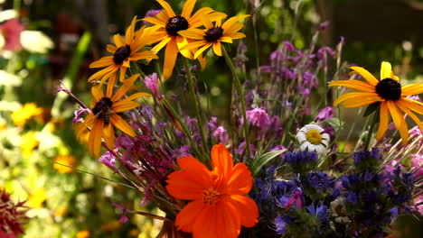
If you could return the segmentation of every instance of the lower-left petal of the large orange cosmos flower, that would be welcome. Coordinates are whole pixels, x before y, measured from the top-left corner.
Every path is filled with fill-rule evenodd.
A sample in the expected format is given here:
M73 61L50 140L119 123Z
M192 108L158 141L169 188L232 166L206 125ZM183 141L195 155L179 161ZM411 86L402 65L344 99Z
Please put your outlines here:
M204 204L202 201L193 201L186 206L176 215L175 224L186 233L193 232L193 224L197 220L197 216L202 213Z

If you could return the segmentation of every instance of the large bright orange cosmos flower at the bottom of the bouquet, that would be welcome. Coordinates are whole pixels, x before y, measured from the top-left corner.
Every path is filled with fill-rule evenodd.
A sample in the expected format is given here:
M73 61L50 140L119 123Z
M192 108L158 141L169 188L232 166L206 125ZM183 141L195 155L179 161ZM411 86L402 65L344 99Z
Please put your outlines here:
M194 238L235 238L240 226L258 222L258 206L245 195L252 188L248 167L240 162L233 166L230 152L222 143L211 149L213 170L191 156L178 165L182 171L168 176L166 189L178 199L193 200L176 215L176 225Z

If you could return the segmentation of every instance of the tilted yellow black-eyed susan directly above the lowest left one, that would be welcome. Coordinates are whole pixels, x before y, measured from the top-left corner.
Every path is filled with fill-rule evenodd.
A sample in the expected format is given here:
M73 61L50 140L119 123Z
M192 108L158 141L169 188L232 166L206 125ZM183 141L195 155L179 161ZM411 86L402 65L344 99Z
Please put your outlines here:
M143 49L146 44L150 43L150 38L145 32L145 27L135 31L136 16L132 19L131 24L127 28L125 39L119 34L113 36L115 45L107 45L108 52L112 53L111 56L103 57L89 65L89 68L105 68L99 70L97 73L89 77L88 81L100 80L100 84L103 84L108 78L116 75L117 71L120 70L119 79L123 81L127 69L130 67L130 61L136 61L140 59L157 59L157 56L153 51Z

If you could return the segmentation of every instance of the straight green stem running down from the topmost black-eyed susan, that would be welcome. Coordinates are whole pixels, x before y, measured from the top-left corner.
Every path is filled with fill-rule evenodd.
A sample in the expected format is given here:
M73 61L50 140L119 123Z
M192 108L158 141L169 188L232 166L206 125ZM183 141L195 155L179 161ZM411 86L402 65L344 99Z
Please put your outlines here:
M193 105L195 107L195 116L197 117L197 124L198 124L198 130L200 131L200 135L202 136L202 152L206 155L209 155L207 152L207 141L206 137L204 135L204 125L202 124L202 113L200 111L201 105L200 100L197 97L197 94L195 93L195 85L193 80L193 74L191 73L190 66L188 64L188 60L186 58L183 58L183 67L185 67L186 75L188 78L188 86L190 87L190 93L193 96Z

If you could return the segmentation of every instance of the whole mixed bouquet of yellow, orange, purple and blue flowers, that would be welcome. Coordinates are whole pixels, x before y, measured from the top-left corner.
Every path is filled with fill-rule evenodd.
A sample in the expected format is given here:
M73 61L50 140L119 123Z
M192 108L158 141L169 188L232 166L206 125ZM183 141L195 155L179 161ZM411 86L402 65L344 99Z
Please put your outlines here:
M348 67L343 39L316 45L325 24L307 48L282 41L248 69L246 44L232 45L251 37L249 14L157 3L90 64L91 105L61 88L80 105L73 123L89 153L165 213L115 205L122 222L164 220L159 237L384 237L419 209L423 85L401 87L385 61L380 78ZM230 98L213 105L200 68L217 57ZM360 107L365 123L345 123L340 106Z

